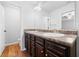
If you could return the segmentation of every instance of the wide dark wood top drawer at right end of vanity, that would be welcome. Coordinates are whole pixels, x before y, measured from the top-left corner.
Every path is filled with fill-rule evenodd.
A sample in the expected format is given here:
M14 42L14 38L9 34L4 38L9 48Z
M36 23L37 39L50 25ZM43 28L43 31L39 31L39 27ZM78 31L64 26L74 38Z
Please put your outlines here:
M56 51L58 54L66 54L68 48L66 46L60 45L58 43L52 42L52 41L45 41L45 46L47 49L51 51Z

